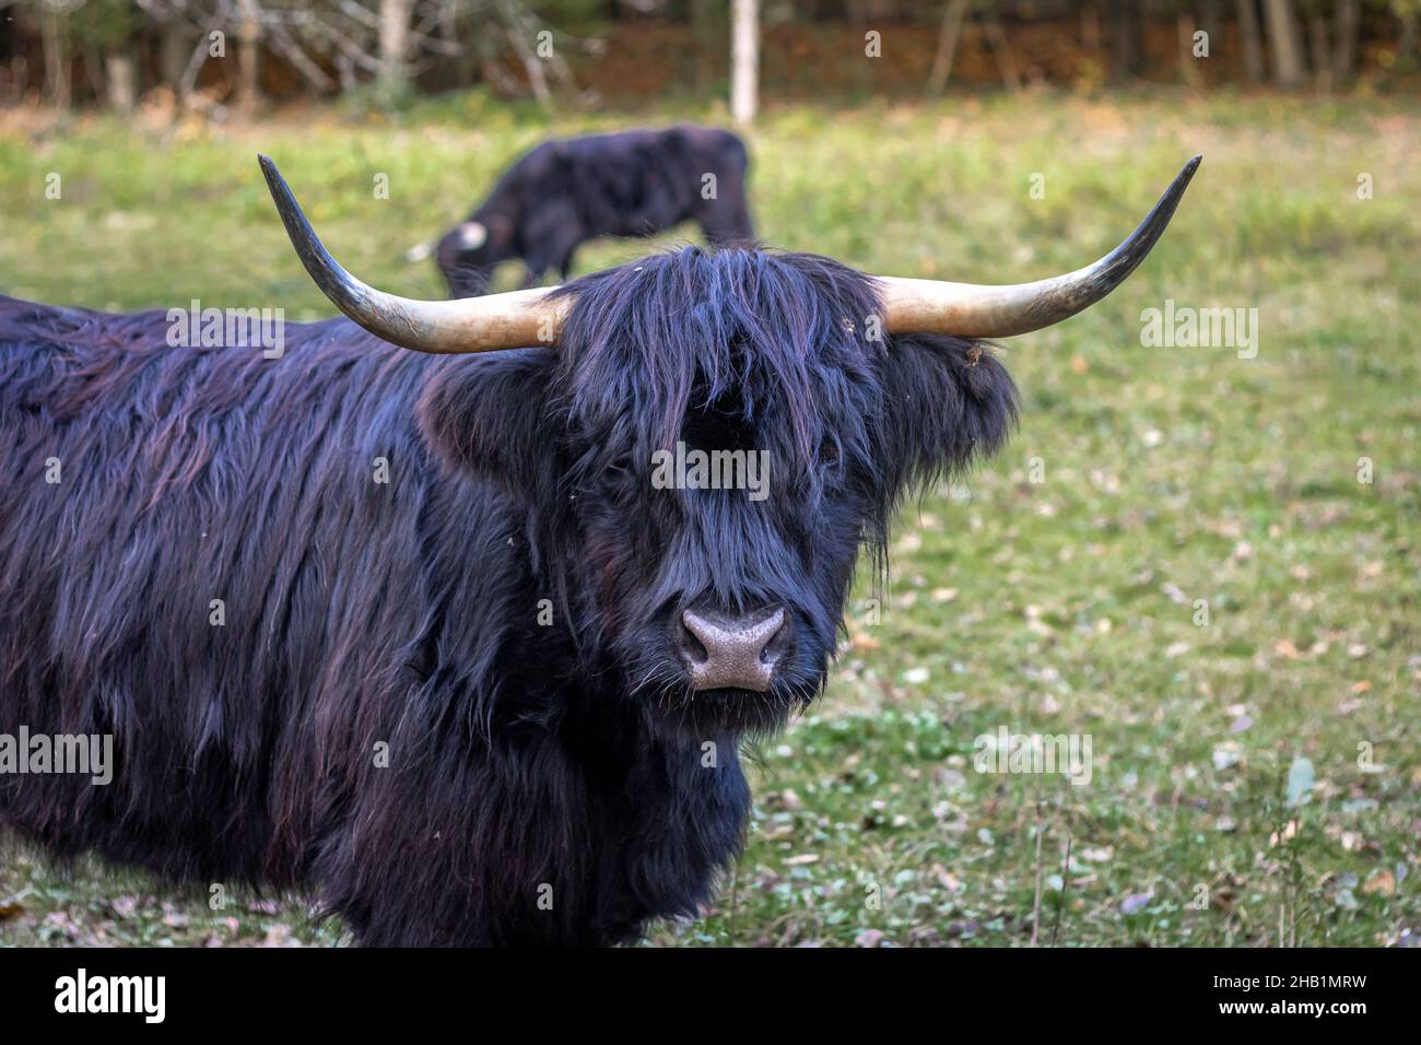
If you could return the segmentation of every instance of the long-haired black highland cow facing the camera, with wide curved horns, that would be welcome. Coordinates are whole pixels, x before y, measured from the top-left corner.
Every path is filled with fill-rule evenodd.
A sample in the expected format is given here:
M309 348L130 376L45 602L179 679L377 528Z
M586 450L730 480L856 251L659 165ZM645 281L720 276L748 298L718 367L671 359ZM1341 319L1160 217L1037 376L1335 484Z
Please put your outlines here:
M881 563L894 505L1007 436L971 338L1108 293L1196 164L1033 284L686 247L428 303L340 269L264 162L355 323L267 360L0 299L0 734L109 735L115 762L0 775L0 823L313 893L367 944L693 916L740 845L740 741L824 687L858 549ZM763 454L764 496L658 482L672 448Z

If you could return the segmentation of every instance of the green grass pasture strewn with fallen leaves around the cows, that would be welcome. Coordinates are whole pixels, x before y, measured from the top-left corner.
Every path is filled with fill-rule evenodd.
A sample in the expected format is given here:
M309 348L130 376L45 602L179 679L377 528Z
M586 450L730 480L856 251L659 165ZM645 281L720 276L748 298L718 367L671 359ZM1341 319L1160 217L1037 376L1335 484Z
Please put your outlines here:
M716 114L637 117L674 118ZM404 262L411 245L543 136L625 122L549 122L482 95L398 124L11 121L0 289L328 314L273 213L264 151L355 273L436 296L432 266ZM891 589L877 614L867 582L857 590L828 697L752 752L733 879L703 918L657 926L651 943L1019 945L1037 879L1040 938L1059 945L1266 945L1280 924L1300 944L1417 941L1418 139L1421 108L1380 100L1032 95L767 115L752 142L766 240L892 274L1074 267L1134 227L1188 156L1205 162L1120 291L1009 344L1020 431L904 513ZM50 172L60 200L45 199ZM377 173L389 199L374 198ZM1029 196L1033 173L1044 199ZM1373 199L1357 198L1360 173ZM580 267L644 249L601 243ZM1140 313L1164 299L1256 307L1258 357L1141 347ZM1090 783L975 772L973 738L1000 725L1088 734ZM1297 758L1316 779L1289 809ZM0 869L0 941L340 938L310 928L301 903L205 899L20 859Z

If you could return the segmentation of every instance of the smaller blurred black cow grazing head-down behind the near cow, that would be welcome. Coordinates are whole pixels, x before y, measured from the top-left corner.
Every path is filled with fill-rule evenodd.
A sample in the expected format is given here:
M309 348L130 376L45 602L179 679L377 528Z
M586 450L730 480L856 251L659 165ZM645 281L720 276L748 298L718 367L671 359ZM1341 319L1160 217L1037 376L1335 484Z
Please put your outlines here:
M524 286L547 272L566 280L573 253L598 236L651 236L693 220L713 246L749 243L747 164L745 142L708 127L544 142L439 240L435 259L449 296L473 297L512 259L527 269Z

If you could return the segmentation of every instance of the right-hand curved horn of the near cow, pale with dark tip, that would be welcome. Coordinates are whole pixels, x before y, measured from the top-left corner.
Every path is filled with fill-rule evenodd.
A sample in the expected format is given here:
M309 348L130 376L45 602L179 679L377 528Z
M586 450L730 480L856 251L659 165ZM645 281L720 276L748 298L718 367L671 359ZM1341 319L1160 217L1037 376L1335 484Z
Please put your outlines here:
M1201 159L1195 156L1184 165L1130 239L1084 269L1010 286L880 277L884 326L899 334L1010 337L1070 318L1124 283L1145 259Z

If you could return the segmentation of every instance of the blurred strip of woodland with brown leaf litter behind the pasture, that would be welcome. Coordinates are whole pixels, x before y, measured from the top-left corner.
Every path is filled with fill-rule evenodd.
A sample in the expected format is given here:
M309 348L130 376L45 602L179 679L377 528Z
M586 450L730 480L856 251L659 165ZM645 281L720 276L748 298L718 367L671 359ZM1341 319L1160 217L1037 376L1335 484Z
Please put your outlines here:
M483 87L594 109L723 94L732 65L772 104L953 85L1387 92L1421 82L1418 20L1421 0L0 0L0 104L225 119ZM732 63L737 24L752 54ZM755 84L736 87L749 119Z

